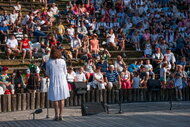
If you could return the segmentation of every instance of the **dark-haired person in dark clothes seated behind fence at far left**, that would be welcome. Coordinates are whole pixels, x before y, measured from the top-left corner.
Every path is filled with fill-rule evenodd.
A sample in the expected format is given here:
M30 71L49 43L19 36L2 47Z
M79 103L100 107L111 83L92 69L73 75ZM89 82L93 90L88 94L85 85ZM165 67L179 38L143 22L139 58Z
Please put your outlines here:
M19 70L15 70L12 75L12 84L15 86L16 93L23 93L26 85Z

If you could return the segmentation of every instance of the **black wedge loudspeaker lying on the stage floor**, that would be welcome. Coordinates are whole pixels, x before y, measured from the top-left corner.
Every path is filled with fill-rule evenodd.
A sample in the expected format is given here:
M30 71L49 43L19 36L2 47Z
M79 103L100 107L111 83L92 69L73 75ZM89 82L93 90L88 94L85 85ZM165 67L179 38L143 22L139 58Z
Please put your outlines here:
M82 116L87 116L87 115L95 115L103 112L108 113L108 106L104 105L104 103L83 103L81 105L81 112Z

